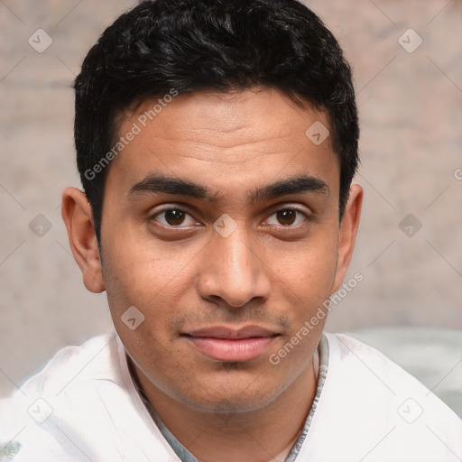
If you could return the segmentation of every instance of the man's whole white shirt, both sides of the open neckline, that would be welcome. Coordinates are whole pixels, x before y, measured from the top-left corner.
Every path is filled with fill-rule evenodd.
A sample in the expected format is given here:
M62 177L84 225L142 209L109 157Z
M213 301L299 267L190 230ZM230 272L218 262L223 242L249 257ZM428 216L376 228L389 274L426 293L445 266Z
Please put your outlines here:
M462 460L462 422L433 393L374 348L324 336L315 405L286 460ZM0 400L0 462L191 460L160 427L136 391L119 337L94 337L60 350Z

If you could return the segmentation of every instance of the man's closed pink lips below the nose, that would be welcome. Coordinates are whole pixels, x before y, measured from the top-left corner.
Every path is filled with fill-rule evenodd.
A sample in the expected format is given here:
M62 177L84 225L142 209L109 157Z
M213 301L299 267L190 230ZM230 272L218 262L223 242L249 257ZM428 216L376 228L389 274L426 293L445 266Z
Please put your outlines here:
M190 345L208 358L223 362L245 362L262 356L280 334L257 326L217 326L182 334Z

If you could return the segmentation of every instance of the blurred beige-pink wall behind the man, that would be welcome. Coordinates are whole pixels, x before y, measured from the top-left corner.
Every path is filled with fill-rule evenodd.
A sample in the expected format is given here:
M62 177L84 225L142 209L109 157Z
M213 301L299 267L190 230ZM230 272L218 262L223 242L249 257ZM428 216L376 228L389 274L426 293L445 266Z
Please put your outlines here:
M365 206L328 329L462 329L462 2L306 1L356 81ZM60 218L79 186L72 80L133 0L0 0L0 394L57 349L112 329Z

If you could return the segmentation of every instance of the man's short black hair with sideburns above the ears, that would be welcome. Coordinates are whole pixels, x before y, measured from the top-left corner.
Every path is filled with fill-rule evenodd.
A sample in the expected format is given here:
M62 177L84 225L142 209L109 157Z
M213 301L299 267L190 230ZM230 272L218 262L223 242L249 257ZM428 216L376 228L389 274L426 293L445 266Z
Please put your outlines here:
M98 243L117 117L172 92L276 88L301 106L325 110L343 215L358 164L351 69L334 35L297 0L143 1L103 32L74 88L77 163Z

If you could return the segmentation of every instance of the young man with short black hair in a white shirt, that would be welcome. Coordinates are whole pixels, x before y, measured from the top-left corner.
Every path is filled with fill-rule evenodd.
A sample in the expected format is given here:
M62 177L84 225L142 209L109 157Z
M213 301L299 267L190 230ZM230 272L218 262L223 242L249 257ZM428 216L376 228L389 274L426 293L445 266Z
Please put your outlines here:
M62 217L116 336L0 404L15 461L450 461L462 424L323 334L362 189L335 38L295 0L143 2L75 82L84 191ZM6 458L8 459L8 458Z

